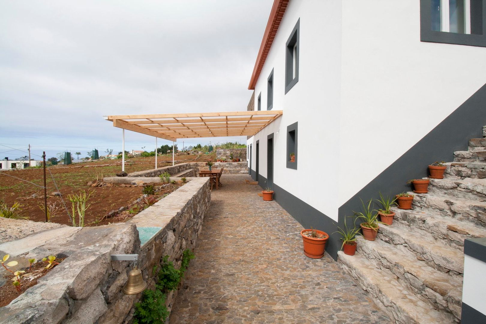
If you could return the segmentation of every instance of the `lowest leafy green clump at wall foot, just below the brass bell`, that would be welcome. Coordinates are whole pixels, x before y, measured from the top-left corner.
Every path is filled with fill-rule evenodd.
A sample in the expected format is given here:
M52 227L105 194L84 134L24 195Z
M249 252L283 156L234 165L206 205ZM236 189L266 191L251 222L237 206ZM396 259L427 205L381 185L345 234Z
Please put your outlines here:
M166 294L159 289L147 289L142 298L135 303L134 324L164 324L169 316L169 310L165 306Z

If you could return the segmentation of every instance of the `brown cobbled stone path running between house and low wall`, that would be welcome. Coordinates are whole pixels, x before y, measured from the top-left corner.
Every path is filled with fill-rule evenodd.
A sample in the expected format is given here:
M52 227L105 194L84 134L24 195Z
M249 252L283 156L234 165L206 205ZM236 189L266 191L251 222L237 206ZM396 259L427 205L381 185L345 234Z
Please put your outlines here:
M390 323L329 255L305 256L302 226L245 179L212 191L171 324Z

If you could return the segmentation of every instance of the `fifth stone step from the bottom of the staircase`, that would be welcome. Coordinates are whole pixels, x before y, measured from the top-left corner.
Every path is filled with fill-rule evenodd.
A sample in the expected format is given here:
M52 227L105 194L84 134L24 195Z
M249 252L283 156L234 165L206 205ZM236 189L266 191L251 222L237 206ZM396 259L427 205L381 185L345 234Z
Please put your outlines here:
M441 216L486 228L486 202L432 193L414 195L413 207L416 211L433 211Z

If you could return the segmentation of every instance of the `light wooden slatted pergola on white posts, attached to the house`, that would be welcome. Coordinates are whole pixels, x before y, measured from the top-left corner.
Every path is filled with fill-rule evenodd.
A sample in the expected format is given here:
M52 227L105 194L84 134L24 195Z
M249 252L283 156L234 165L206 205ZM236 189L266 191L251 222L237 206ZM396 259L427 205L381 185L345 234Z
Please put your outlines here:
M253 136L280 117L280 115L282 115L281 110L266 110L189 114L111 115L104 116L104 119L112 121L113 126L123 129L122 151L125 152L125 129L156 137L157 146L157 138L175 142L178 138ZM125 154L122 154L122 158L122 170L124 171Z

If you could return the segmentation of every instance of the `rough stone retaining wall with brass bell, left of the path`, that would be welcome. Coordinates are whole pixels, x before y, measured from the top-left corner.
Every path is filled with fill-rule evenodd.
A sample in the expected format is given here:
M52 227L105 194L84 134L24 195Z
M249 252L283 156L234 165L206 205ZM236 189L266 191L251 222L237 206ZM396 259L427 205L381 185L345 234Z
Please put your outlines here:
M141 294L125 295L122 287L132 264L111 261L110 256L138 254L139 269L153 288L152 268L163 256L168 255L179 267L182 252L194 248L210 204L208 179L192 179L126 223L80 228L0 218L0 254L10 254L10 260L18 261L17 269L27 267L29 258L67 256L38 279L37 285L1 307L0 323L131 322ZM157 229L140 246L137 228L143 227ZM173 291L167 296L169 309L176 294Z

